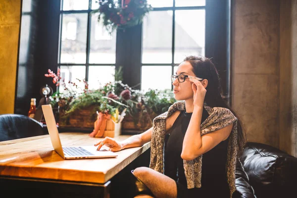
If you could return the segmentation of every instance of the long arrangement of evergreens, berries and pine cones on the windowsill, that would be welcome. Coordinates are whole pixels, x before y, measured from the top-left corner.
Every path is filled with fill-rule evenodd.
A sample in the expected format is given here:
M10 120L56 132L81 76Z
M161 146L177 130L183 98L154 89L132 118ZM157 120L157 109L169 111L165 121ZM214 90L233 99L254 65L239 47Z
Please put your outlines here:
M63 86L63 93L53 94L52 105L59 108L59 125L69 125L69 117L77 111L92 106L88 114L90 120L100 115L111 115L114 120L117 115L126 110L123 122L133 122L132 128L146 130L152 126L152 119L167 111L176 100L171 90L149 90L148 92L134 90L127 84L123 84L118 76L121 76L121 67L116 69L115 81L106 83L97 90L90 90L88 83L79 80L85 85L85 89L75 92L71 87L83 87L73 82L65 83L57 74L48 71L46 77L51 77L57 86ZM116 121L116 120L114 120Z

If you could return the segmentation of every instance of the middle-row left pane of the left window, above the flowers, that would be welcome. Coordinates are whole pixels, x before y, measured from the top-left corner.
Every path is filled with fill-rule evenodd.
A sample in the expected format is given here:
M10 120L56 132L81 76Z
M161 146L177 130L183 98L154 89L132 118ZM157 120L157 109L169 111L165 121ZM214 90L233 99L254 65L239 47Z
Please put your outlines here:
M63 14L61 63L86 63L88 14Z

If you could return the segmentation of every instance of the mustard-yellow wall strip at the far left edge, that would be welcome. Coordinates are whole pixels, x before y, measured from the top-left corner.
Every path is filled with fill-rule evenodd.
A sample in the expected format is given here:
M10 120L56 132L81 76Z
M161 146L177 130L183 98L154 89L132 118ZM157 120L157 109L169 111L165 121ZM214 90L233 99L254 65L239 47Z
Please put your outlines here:
M14 112L21 0L0 0L0 114Z

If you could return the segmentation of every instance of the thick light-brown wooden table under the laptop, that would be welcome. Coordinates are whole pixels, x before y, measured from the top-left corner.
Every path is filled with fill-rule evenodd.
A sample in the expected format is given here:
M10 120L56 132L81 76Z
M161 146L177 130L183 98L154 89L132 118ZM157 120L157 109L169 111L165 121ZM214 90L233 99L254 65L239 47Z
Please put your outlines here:
M60 133L60 139L62 146L90 146L101 138L76 132ZM118 151L115 158L64 160L53 150L49 135L0 142L0 190L9 193L22 190L31 197L33 192L37 192L37 197L39 193L43 193L40 197L113 197L112 192L119 190L130 169L143 165L141 156L146 151L145 160L149 162L149 148L147 143ZM140 158L138 164L137 158ZM127 167L127 174L122 173Z

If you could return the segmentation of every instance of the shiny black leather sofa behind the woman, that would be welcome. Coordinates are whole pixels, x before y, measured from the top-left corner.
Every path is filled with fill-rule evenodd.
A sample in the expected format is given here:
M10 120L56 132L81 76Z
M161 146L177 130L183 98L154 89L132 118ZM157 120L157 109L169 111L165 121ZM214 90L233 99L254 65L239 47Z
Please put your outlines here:
M233 198L297 198L297 157L248 142L236 168Z

